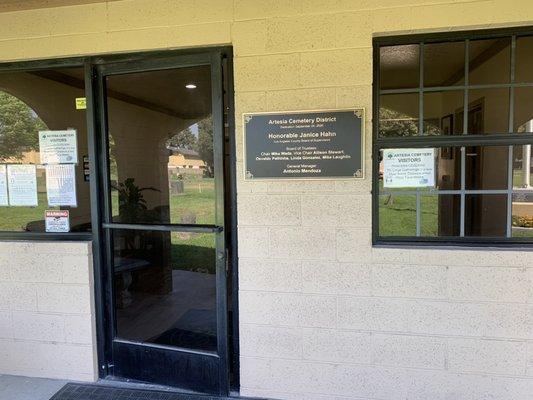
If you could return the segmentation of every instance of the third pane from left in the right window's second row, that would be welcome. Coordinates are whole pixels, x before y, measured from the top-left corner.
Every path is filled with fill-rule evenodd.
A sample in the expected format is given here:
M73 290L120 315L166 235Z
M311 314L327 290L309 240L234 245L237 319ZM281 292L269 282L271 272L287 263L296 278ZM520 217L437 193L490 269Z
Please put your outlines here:
M469 135L509 132L509 89L469 90L468 96Z

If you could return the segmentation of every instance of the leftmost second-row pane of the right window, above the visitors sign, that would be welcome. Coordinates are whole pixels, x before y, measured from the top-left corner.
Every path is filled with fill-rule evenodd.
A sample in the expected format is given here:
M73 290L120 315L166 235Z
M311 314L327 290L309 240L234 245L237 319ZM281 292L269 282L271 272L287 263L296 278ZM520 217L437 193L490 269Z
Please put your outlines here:
M414 136L418 134L418 93L380 96L379 135Z

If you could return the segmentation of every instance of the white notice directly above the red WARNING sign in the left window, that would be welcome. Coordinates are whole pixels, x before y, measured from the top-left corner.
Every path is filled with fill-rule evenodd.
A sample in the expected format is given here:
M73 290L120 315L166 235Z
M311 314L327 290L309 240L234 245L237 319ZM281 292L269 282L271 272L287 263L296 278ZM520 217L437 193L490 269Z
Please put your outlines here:
M74 164L46 166L46 194L50 207L78 206Z

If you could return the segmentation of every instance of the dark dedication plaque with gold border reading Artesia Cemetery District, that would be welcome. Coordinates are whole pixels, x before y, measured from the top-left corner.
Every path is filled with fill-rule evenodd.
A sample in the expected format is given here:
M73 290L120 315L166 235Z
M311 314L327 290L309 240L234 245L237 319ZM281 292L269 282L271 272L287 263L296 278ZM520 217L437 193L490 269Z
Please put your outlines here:
M243 118L246 179L363 178L363 109Z

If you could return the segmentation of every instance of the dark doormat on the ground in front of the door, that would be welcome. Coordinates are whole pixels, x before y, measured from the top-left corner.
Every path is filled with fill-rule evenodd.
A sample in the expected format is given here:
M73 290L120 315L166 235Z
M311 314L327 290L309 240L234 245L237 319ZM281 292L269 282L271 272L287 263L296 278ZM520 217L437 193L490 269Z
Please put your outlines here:
M206 396L160 390L67 383L50 400L224 400L229 397ZM246 400L239 397L239 400Z

